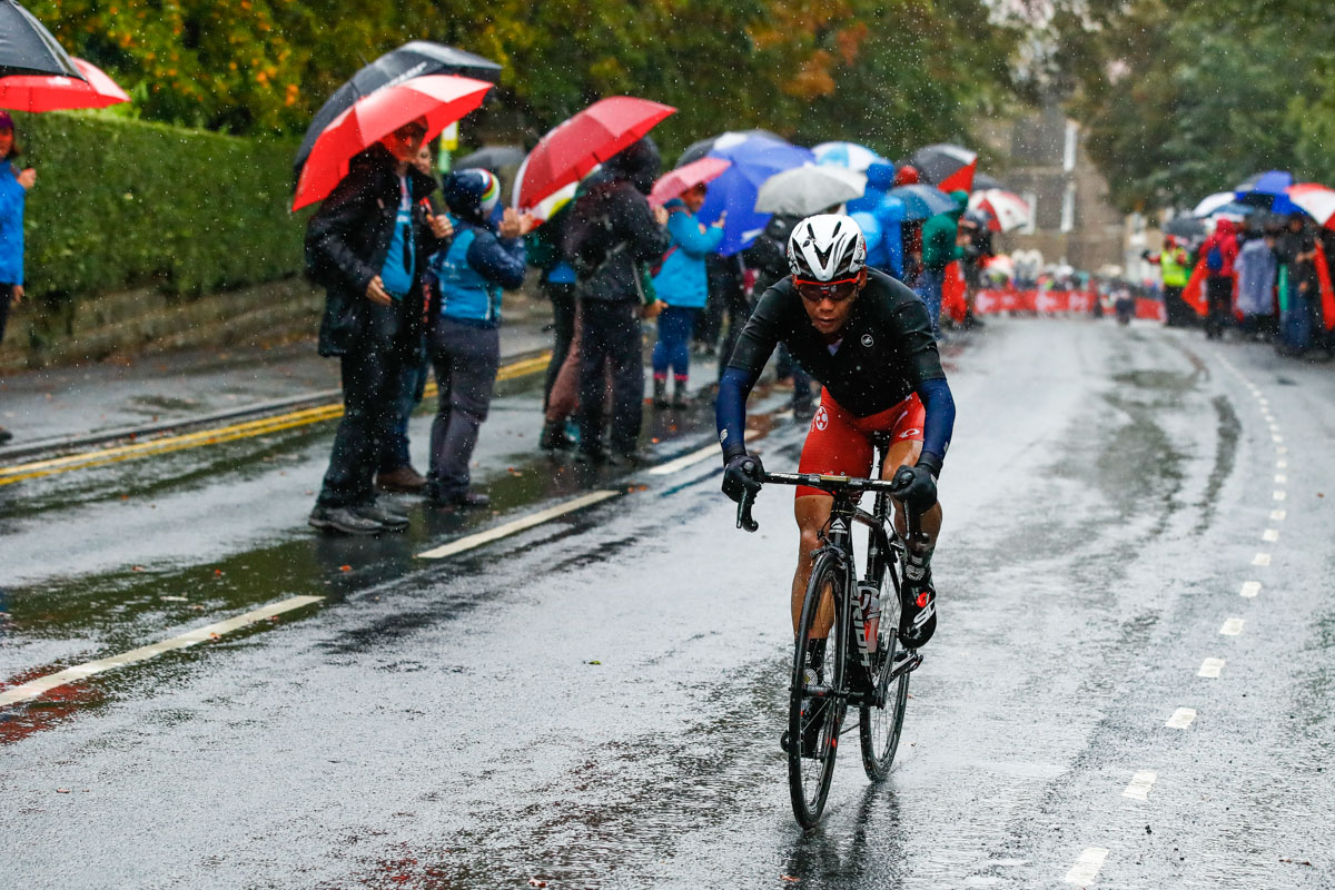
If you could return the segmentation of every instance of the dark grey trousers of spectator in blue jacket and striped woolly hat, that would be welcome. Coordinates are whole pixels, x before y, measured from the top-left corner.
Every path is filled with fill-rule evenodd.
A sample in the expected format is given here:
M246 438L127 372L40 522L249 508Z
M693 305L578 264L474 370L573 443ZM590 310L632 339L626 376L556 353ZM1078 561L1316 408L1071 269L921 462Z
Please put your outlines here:
M441 388L427 479L433 496L449 499L469 488L469 462L501 367L501 331L437 319L427 339Z

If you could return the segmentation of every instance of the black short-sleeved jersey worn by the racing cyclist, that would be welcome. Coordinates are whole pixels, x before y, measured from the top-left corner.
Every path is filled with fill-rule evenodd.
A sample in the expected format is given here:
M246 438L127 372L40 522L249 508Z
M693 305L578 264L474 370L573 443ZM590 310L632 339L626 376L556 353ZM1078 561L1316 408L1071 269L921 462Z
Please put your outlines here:
M833 352L812 327L789 276L760 298L728 367L756 380L780 342L836 402L860 418L898 404L925 380L945 379L922 300L876 270L868 270L866 287L854 299Z

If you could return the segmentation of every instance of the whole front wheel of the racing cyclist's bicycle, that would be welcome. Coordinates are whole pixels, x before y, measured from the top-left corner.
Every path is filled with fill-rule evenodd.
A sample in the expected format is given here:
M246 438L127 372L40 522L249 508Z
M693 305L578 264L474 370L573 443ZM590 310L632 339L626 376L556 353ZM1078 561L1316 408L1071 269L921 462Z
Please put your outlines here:
M844 662L848 647L844 568L830 554L812 567L802 616L797 626L793 678L788 703L788 787L793 815L804 829L820 822L834 778L840 726L844 722ZM822 615L824 612L824 615ZM816 671L806 659L806 640L820 618L833 615L825 639L825 656ZM809 675L809 671L812 675Z

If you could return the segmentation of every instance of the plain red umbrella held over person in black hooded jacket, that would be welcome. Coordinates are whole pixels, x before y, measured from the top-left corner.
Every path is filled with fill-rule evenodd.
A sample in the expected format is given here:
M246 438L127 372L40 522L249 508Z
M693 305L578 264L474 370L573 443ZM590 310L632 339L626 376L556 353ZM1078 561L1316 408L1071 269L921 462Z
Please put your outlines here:
M574 117L557 124L529 152L515 192L515 204L519 209L533 208L674 113L677 109L672 105L634 96L611 96L595 101Z

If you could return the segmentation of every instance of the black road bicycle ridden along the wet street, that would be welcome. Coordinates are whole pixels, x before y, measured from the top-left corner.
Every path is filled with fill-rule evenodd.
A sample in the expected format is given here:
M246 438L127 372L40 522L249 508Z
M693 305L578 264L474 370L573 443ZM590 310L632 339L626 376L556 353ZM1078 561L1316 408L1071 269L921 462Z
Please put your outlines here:
M874 475L881 475L886 442L877 439ZM802 600L788 703L788 785L793 814L804 829L820 822L834 777L844 717L858 709L862 769L872 782L890 773L904 727L909 674L922 663L916 650L900 644L904 603L905 539L921 535L917 518L905 510L905 535L892 522L892 483L804 472L766 472L762 483L808 486L834 498L830 518L820 531L821 546L812 554L812 579ZM866 492L876 495L870 512L858 506ZM737 504L737 527L756 531L752 519L756 492ZM857 578L853 523L868 528L866 572ZM833 608L833 614L830 610ZM833 622L830 622L833 618ZM829 623L820 636L816 628ZM808 639L818 638L824 656L809 659Z

